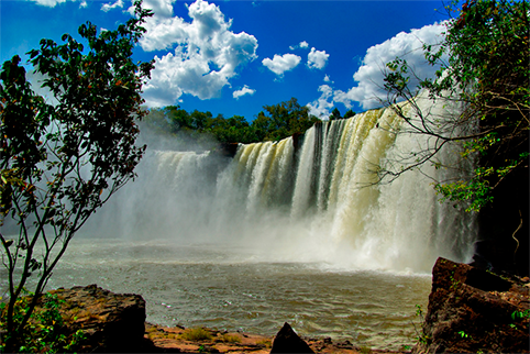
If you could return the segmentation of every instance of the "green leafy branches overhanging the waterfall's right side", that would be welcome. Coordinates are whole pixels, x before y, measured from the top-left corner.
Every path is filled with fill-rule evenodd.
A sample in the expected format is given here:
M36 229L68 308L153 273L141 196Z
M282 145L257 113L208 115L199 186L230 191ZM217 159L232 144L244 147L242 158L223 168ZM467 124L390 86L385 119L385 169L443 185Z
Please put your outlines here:
M417 89L408 87L415 73L404 59L387 65L385 87L390 103L411 100L418 120L397 112L412 131L437 140L409 168L433 161L448 143L461 144L462 157L476 159L476 169L471 178L438 184L437 190L478 211L493 201L495 188L526 168L530 156L530 8L525 0L466 1L461 10L456 3L448 7L457 16L448 22L443 42L424 46L429 64L440 68L437 77L421 79L418 88L434 100L456 100L462 114L440 129L440 121L421 112Z

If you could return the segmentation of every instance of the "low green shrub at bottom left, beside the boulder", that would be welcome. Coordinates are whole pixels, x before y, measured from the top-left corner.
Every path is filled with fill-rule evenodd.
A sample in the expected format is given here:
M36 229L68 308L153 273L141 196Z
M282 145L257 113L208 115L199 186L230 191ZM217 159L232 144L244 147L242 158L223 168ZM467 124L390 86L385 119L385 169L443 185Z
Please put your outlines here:
M85 334L81 330L75 333L64 331L64 321L59 312L64 300L56 295L45 294L41 299L40 307L31 310L31 302L34 294L20 297L14 305L14 321L23 321L27 312L32 312L30 321L22 330L16 333L18 341L23 343L19 347L19 353L75 353L82 341ZM0 303L0 330L7 332L7 336L0 339L0 353L5 353L5 342L11 332L8 331L7 303Z

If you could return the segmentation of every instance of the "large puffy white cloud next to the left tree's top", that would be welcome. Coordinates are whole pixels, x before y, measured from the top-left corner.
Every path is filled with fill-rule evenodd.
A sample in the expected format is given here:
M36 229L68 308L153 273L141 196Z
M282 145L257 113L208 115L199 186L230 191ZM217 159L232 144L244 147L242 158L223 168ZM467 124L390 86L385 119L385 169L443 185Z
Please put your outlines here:
M148 106L172 104L184 93L200 99L219 97L236 69L257 57L257 40L245 32L231 32L232 21L225 21L216 4L205 0L189 4L191 22L186 22L173 16L173 2L144 2L145 8L158 10L154 9L155 15L147 20L140 45L146 52L174 48L155 56L152 79L144 86Z

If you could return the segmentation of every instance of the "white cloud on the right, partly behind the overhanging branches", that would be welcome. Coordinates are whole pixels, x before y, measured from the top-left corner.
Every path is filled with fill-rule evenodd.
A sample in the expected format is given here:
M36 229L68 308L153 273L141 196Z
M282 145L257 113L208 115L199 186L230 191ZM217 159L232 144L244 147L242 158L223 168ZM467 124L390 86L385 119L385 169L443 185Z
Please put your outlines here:
M360 102L364 109L375 108L385 100L384 70L385 64L401 57L419 77L433 77L437 68L428 65L424 59L423 44L437 44L442 40L445 25L431 24L409 33L401 32L382 44L368 48L363 59L363 65L353 75L357 86L347 92L334 92L334 101L344 103L347 108L354 101ZM417 82L411 82L416 86ZM411 87L413 87L411 86Z

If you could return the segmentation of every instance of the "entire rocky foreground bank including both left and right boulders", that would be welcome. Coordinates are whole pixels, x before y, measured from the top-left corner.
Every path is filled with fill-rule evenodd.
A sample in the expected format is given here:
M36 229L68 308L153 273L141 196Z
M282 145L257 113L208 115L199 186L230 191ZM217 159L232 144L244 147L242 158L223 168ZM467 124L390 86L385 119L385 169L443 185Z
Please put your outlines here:
M426 321L415 354L530 353L530 278L496 275L467 264L439 258ZM371 350L349 341L287 338L303 351L276 351L279 334L266 336L206 328L146 323L145 300L139 295L113 294L96 285L52 291L64 300L67 331L86 335L80 353L409 353ZM288 327L288 325L287 325ZM288 327L290 329L290 327ZM285 338L284 333L284 338ZM303 340L303 341L302 341ZM290 345L290 344L288 344Z

